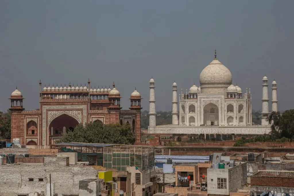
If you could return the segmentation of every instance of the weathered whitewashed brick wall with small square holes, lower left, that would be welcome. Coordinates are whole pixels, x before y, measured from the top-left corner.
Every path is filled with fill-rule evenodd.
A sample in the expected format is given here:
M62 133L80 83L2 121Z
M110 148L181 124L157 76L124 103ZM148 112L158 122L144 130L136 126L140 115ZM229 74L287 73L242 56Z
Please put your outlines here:
M47 164L1 165L0 170L4 172L0 173L0 195L26 195L41 191L50 195L50 174L52 195L78 195L79 180L98 178L98 171L91 166L66 166L64 157L45 159ZM34 180L29 181L29 178Z

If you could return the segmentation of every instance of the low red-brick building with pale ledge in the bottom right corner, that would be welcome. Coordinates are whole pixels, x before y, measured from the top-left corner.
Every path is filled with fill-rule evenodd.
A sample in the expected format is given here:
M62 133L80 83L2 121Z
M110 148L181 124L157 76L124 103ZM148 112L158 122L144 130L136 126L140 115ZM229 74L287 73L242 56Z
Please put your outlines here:
M260 170L250 178L250 190L256 195L271 191L294 192L294 171Z

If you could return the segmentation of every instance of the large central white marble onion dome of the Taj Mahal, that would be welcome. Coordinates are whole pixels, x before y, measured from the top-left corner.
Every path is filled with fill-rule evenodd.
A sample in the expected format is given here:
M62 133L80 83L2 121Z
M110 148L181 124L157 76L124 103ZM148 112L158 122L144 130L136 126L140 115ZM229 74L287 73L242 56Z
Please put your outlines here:
M215 58L200 73L200 86L229 86L232 83L232 73L223 63Z

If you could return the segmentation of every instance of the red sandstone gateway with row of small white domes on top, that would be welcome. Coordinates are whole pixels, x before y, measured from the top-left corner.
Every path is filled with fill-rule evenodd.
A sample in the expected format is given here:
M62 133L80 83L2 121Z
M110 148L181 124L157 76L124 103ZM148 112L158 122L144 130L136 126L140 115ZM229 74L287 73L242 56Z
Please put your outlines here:
M79 123L98 121L103 124L129 124L141 143L141 95L131 94L130 110L121 110L120 93L115 88L92 89L88 86L56 86L42 90L39 82L39 108L26 111L24 97L16 89L11 100L11 141L19 138L20 145L50 145L56 143L62 134L74 130Z

